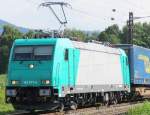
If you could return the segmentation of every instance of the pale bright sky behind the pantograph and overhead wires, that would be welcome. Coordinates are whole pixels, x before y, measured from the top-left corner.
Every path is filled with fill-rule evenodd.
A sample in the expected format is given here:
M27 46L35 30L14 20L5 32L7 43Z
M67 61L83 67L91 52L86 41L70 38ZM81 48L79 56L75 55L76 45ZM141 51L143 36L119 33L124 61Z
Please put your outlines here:
M65 8L68 20L66 28L80 30L102 31L112 24L122 28L130 11L134 17L150 15L150 0L0 0L0 19L31 29L58 29L60 24L52 12L48 8L39 7L39 4L47 1L69 3L71 7ZM58 6L53 8L63 19L61 9ZM150 18L135 20L145 21L150 22Z

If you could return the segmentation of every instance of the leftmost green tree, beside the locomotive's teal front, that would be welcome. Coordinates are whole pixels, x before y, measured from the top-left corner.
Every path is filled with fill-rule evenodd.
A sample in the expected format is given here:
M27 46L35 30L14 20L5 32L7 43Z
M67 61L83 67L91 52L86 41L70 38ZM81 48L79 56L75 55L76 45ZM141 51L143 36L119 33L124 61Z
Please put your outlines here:
M5 73L7 71L8 58L11 49L12 42L17 38L22 38L23 34L19 32L15 27L10 25L5 25L3 33L0 39L0 73Z

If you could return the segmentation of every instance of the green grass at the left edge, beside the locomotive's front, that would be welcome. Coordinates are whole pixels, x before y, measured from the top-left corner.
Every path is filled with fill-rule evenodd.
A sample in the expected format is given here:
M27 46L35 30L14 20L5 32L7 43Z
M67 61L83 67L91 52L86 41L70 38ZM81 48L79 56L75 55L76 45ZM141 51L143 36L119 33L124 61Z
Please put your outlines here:
M11 104L5 103L5 85L6 75L0 75L0 115L5 115L8 112L14 111Z

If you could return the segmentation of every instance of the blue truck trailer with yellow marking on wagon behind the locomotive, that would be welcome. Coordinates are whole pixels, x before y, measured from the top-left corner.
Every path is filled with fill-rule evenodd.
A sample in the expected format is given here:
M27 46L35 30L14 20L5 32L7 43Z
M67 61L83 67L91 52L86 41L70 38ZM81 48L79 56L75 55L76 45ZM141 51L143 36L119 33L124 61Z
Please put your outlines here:
M131 44L115 47L122 48L128 55L131 90L150 98L150 49Z

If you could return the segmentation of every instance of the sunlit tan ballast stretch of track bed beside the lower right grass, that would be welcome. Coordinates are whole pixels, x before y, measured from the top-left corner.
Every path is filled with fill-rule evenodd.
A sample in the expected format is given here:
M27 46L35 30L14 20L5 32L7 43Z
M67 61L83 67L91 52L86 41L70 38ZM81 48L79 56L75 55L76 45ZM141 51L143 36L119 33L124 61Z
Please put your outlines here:
M142 103L124 103L111 105L110 107L91 107L78 109L77 111L66 112L66 115L127 115L129 108L141 105Z

